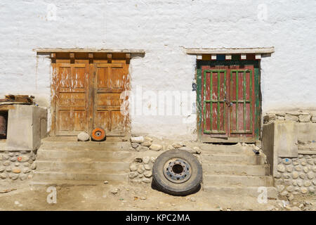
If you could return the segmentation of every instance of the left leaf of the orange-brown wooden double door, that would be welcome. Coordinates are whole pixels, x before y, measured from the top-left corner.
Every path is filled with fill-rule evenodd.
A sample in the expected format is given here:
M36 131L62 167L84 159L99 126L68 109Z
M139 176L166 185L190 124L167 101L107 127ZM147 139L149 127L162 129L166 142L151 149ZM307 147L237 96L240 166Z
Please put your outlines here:
M72 136L88 127L87 63L55 65L55 134Z

